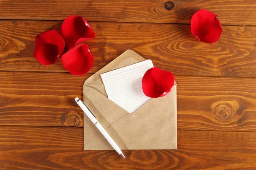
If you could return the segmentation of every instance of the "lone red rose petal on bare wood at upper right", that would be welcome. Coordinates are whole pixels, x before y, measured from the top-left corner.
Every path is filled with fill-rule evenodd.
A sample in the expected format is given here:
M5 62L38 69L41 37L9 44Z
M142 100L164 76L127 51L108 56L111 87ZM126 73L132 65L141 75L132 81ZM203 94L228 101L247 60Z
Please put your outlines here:
M201 9L191 19L191 33L199 41L216 42L221 36L222 27L217 15L206 9Z

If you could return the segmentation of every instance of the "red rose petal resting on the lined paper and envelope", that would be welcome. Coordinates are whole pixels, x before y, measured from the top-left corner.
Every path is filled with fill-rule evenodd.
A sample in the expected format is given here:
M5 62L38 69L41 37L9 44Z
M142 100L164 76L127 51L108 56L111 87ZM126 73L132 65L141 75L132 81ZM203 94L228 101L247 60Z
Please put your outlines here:
M146 71L142 79L143 92L151 98L165 96L171 91L173 85L173 74L157 67L150 68Z

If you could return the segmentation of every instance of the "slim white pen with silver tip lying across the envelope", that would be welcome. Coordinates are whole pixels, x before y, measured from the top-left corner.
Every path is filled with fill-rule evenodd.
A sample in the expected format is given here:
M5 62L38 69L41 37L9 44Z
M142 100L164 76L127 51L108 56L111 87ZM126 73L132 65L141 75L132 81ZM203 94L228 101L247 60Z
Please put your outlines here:
M93 113L90 111L89 108L82 102L78 97L75 98L77 104L80 106L80 108L84 111L84 113L89 117L89 119L93 122L93 124L99 129L99 131L102 133L102 135L108 140L108 142L111 144L111 146L116 150L119 155L121 155L123 158L125 158L124 154L122 153L122 150L117 146L117 144L113 141L113 139L109 136L108 132L102 127L102 125L99 124L96 117L93 115Z

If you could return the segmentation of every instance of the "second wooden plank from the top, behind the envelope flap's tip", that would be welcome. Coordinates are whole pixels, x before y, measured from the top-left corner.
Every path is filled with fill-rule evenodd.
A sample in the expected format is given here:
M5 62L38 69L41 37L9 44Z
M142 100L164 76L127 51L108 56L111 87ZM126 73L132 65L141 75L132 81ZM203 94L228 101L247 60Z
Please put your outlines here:
M95 57L90 73L133 49L175 75L256 77L256 27L224 26L220 39L206 44L191 35L189 25L90 24L96 33L87 42ZM55 21L0 20L0 70L65 72L60 60L44 66L33 57L35 36L60 26Z

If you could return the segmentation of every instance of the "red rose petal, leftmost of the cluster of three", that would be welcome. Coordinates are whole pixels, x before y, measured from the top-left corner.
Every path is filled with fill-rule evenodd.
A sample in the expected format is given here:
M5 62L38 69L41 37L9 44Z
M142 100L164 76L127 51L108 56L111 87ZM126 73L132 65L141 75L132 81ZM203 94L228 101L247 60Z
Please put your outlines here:
M49 65L57 61L65 48L65 42L55 29L38 34L35 37L34 57L42 64Z

